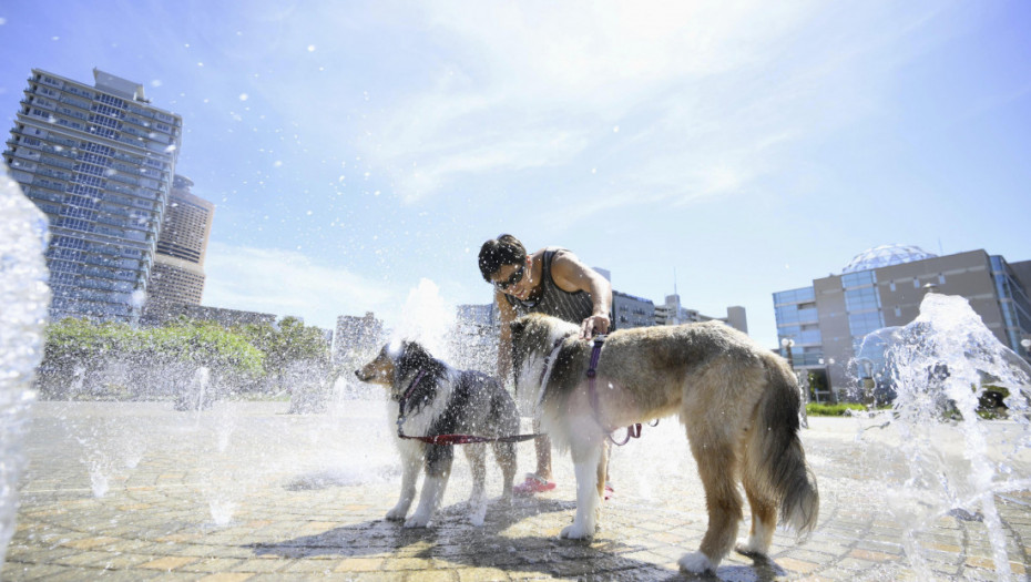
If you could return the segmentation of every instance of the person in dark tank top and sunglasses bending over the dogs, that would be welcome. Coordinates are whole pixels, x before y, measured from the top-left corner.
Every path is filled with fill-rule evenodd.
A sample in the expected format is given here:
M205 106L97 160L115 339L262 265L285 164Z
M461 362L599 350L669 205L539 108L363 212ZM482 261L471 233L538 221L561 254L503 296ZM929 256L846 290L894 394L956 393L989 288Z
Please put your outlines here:
M480 274L494 286L494 303L501 320L498 343L498 375L512 372L512 337L509 324L518 316L541 313L580 324L580 337L606 334L612 326L612 286L574 254L545 247L527 254L522 243L510 234L491 238L480 247ZM534 430L539 431L534 421ZM551 474L551 439L534 440L537 471L516 487L517 494L554 489ZM606 490L611 491L609 486ZM608 498L608 496L606 496Z

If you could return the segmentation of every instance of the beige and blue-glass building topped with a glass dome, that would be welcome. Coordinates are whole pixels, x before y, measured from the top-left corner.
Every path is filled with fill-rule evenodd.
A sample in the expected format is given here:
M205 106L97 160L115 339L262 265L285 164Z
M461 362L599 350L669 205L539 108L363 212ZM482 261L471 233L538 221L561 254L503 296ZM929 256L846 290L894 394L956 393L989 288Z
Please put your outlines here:
M1031 261L1010 264L984 251L937 256L905 245L871 248L840 274L774 293L780 354L807 372L818 398L840 398L857 382L850 363L862 338L911 323L929 290L966 298L1002 345L1028 357L1020 343L1031 337ZM859 374L876 374L878 365Z

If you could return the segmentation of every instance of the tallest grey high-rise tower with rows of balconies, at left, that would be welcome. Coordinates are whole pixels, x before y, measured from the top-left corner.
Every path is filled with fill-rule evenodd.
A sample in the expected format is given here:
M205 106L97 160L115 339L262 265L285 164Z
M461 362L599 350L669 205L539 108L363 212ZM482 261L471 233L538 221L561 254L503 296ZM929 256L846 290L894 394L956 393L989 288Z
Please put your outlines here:
M3 161L50 219L51 317L135 321L175 172L182 118L143 85L33 69Z

